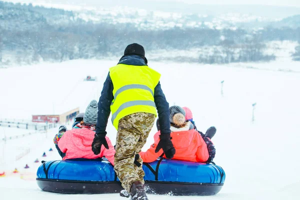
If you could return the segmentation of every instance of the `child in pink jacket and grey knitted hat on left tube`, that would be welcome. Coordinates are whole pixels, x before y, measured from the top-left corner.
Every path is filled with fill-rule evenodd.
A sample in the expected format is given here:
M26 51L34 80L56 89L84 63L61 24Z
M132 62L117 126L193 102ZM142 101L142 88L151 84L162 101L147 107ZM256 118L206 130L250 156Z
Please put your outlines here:
M73 129L61 131L55 135L54 143L56 142L62 153L65 153L63 160L73 158L96 159L105 156L114 165L115 150L107 136L105 138L108 149L102 146L101 153L95 155L90 147L95 134L97 111L97 101L92 100L85 110L83 123L78 123Z

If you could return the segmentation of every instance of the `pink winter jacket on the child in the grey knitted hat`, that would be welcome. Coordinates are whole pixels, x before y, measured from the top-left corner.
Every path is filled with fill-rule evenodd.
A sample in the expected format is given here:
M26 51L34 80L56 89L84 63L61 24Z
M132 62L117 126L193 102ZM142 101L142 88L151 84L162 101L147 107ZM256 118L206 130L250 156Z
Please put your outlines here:
M114 165L114 147L106 136L108 149L103 145L99 154L95 155L91 150L91 143L95 132L89 128L73 128L67 130L57 142L59 149L65 153L63 160L74 158L95 159L105 156Z

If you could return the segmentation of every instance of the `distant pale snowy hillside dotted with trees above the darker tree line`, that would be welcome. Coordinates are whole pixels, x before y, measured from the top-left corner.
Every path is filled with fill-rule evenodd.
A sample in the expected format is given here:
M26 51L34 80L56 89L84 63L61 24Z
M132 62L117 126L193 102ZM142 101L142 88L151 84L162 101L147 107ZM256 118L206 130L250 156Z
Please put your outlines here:
M19 2L19 1L15 1ZM32 2L29 8L42 13L48 23L69 23L72 21L92 21L93 23L130 23L138 29L169 29L180 28L238 28L288 26L299 27L297 17L300 8L258 6L258 5L198 5L182 2L155 3L144 1L140 4L109 1L97 3L93 1L84 4L71 1L71 4L60 1L21 1ZM112 3L112 4L111 4ZM20 5L18 3L18 5ZM33 7L32 5L39 5ZM86 6L89 5L89 6ZM94 6L92 6L94 5ZM158 6L157 6L158 5ZM172 9L172 5L176 9ZM59 8L59 9L44 9ZM163 9L163 7L167 7ZM179 9L178 9L179 8ZM67 11L62 11L67 10ZM189 10L186 12L186 10ZM280 10L280 11L279 11ZM279 13L278 13L279 11ZM286 18L287 17L287 18ZM288 23L286 23L288 21Z

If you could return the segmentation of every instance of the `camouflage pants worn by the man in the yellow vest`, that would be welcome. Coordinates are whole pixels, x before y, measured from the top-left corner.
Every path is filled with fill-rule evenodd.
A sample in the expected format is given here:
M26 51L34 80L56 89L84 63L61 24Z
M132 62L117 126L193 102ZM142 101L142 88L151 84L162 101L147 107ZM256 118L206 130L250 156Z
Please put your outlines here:
M124 116L119 120L116 135L114 170L122 183L122 187L130 192L132 182L144 183L142 165L137 167L135 154L139 153L153 126L155 115L137 112ZM142 164L142 159L137 160Z

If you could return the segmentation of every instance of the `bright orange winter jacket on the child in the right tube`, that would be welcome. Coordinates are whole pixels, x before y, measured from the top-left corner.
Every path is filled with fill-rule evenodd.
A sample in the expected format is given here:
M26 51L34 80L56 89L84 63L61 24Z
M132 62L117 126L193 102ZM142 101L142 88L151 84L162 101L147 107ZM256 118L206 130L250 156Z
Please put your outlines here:
M172 159L205 162L209 157L206 143L198 131L193 128L189 130L189 127L189 123L183 128L174 128L171 126L171 140L176 149ZM146 152L139 152L139 155L144 162L153 162L163 153L162 149L155 153L155 148L159 142L159 135L160 131L155 133L154 143L151 144Z

